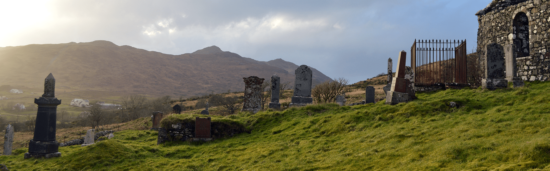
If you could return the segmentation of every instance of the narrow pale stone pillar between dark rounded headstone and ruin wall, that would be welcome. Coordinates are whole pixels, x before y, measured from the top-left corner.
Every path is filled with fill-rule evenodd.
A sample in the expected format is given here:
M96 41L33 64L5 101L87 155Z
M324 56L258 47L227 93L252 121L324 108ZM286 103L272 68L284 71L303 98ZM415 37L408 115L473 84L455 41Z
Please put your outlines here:
M506 80L512 82L514 87L523 87L525 83L518 77L515 44L507 44L504 46L504 60L506 62Z

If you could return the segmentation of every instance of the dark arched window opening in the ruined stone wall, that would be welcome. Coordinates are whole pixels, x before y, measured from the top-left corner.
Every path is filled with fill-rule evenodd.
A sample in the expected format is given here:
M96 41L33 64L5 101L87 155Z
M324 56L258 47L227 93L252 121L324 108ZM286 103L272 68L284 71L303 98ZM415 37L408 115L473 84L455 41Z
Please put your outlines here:
M512 24L514 35L513 43L516 45L516 58L529 56L529 19L527 14L520 12L514 17Z

